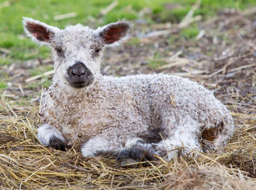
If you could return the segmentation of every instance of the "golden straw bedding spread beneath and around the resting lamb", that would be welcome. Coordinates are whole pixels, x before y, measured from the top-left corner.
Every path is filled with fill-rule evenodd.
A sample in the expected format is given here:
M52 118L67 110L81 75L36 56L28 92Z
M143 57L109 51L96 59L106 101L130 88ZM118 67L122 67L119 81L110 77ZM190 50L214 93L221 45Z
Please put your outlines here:
M256 122L237 116L234 137L222 153L147 168L121 169L114 158L83 157L76 148L67 152L41 146L35 136L38 106L24 107L17 115L5 113L0 124L0 185L3 189L253 189L256 184ZM16 107L16 108L15 108ZM22 113L22 114L21 114ZM246 118L243 118L246 117Z

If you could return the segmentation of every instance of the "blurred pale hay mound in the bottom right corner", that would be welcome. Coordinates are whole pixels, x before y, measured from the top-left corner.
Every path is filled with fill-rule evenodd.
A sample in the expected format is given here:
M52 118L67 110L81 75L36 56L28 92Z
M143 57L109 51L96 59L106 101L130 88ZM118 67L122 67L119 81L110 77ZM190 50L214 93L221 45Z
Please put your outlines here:
M177 172L168 174L161 189L253 189L255 182L243 174L230 174L225 167L201 165L199 167L180 167Z

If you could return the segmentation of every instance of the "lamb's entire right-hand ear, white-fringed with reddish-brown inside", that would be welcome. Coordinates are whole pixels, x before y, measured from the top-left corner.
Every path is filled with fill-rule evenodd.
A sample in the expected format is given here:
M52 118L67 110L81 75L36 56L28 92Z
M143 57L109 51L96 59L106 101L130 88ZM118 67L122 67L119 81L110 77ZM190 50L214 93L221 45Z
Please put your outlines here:
M132 23L126 20L121 20L115 23L110 23L96 30L99 36L103 38L106 46L118 45L121 41L129 38Z

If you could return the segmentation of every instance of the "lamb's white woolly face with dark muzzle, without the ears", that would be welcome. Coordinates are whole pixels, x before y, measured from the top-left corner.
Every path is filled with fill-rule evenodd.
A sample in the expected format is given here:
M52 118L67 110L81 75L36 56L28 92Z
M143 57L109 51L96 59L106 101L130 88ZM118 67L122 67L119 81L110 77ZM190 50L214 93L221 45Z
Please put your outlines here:
M51 40L55 75L75 88L90 86L100 76L104 41L89 27L70 26Z

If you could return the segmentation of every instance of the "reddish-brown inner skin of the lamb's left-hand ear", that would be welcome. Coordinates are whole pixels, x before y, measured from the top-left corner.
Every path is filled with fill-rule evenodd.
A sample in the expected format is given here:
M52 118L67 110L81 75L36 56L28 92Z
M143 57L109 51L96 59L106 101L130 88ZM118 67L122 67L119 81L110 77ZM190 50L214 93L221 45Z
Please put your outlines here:
M27 22L26 28L39 41L49 42L50 33L44 26L34 22Z

